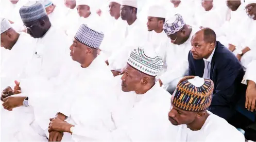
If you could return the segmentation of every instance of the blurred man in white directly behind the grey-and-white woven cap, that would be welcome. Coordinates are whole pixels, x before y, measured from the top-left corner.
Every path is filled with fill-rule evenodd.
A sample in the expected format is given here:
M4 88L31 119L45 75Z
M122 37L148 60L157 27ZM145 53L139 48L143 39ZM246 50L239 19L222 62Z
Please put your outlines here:
M91 10L91 5L93 2L89 0L79 0L76 1L77 14L75 15L76 21L70 28L66 30L66 34L72 39L76 31L81 24L86 24L93 29L100 29L99 16L93 13Z

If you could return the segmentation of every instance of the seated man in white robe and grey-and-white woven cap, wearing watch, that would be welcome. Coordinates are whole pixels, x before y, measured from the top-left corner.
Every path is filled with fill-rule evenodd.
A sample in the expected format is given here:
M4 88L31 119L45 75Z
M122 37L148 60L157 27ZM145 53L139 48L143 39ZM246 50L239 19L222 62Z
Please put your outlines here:
M109 89L113 88L110 86L113 82L111 80L113 79L113 74L105 61L97 57L97 50L103 37L103 33L96 32L86 25L81 25L75 36L74 43L70 47L72 59L79 64L76 62L72 62L76 64L65 63L66 68L62 70L64 73L60 74L57 79L49 80L48 82L55 89L49 92L40 90L30 92L29 94L20 94L27 95L28 97L9 96L4 99L3 106L8 109L23 105L32 107L35 121L30 126L35 132L38 132L43 137L47 137L50 141L62 138L62 133L57 132L56 129L49 131L48 135L48 120L58 112L59 107L62 110L60 112L66 116L71 116L70 120L74 120L74 125L84 123L84 126L101 130L101 122L106 125L108 124L108 119L106 120L108 115L104 115L103 112L96 112L104 111L104 113L107 113L108 104L104 104L104 102L109 103L115 97L114 93L111 93L111 90L109 91ZM65 82L62 82L62 80L65 80ZM61 84L56 82L61 82ZM45 89L48 90L48 88ZM83 111L88 110L87 114L90 114L90 117L86 117L87 115L77 117L79 113L77 110L81 110L81 108L83 108ZM110 113L107 114L110 116ZM111 116L107 118L110 118L109 121L112 124ZM22 130L26 131L26 129ZM24 138L22 137L21 139L23 140ZM35 140L38 139L33 139L33 141Z

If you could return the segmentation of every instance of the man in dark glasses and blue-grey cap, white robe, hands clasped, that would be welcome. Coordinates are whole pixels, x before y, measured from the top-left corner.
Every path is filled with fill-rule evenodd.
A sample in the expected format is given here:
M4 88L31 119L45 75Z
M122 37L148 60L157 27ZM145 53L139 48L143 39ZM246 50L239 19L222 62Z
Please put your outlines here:
M37 9L38 13L35 13L33 9ZM20 9L20 13L29 34L37 38L36 49L26 70L23 72L20 83L16 84L14 90L10 89L10 87L7 88L11 92L17 90L15 88L21 91L21 94L15 95L17 97L4 98L4 102L8 103L8 105L4 105L4 108L10 111L13 107L23 105L22 103L26 100L26 96L31 92L47 90L47 88L51 87L50 85L47 86L47 81L60 73L61 66L65 64L66 50L70 43L64 32L56 30L50 25L45 9L40 3L30 2ZM40 45L43 45L43 47ZM31 107L21 107L19 109L27 111L22 113L23 115L33 114ZM15 112L20 113L21 110L15 110ZM16 115L22 116L21 114ZM29 120L27 123L31 124L35 118L31 116ZM15 132L13 133L15 134Z

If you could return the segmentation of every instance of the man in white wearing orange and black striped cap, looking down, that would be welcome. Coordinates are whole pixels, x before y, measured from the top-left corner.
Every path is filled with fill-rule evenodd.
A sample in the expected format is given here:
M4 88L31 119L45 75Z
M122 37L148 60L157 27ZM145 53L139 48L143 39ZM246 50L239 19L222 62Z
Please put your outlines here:
M206 110L213 92L211 79L186 76L180 80L168 114L170 123L178 126L173 141L245 141L225 119Z

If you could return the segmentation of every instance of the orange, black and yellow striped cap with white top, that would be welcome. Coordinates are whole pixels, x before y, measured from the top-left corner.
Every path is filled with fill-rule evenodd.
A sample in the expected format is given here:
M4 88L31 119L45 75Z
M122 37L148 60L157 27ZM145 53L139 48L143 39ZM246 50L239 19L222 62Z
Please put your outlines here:
M172 104L186 111L206 110L211 105L213 89L211 79L186 76L180 80L174 91Z

